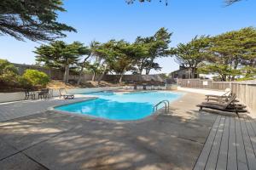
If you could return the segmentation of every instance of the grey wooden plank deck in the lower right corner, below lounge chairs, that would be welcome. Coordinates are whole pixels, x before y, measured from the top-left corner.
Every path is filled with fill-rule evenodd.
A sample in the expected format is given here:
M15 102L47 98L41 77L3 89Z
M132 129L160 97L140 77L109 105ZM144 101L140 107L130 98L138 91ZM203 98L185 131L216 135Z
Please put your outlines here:
M256 121L217 116L194 169L256 169Z

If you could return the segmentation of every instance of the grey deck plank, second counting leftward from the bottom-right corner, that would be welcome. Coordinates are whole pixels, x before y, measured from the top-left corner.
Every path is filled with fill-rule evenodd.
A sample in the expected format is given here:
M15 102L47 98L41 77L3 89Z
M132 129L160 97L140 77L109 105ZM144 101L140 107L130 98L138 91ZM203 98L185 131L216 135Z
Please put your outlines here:
M241 122L236 117L236 150L237 150L237 168L239 170L247 170L247 156L245 145L241 134Z

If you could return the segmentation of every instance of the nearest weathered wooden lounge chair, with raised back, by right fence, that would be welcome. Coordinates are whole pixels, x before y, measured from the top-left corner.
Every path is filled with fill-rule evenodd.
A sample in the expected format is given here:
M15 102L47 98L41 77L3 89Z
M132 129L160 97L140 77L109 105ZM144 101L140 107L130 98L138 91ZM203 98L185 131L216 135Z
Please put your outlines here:
M228 112L235 112L236 115L239 117L238 113L240 112L247 112L245 110L245 105L236 105L234 101L236 100L236 94L232 94L230 99L227 102L217 103L217 102L203 102L200 105L196 105L200 107L199 111L202 111L203 108L208 108L212 110L218 111L228 111Z

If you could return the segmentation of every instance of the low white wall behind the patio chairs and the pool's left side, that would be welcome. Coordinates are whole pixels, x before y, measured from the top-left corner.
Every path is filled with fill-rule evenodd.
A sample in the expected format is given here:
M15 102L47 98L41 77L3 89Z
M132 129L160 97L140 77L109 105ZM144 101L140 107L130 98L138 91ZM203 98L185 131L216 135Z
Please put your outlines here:
M76 89L67 89L68 94L85 94L85 93L92 93L92 92L100 92L100 91L107 91L107 90L117 90L122 87L104 87L104 88L76 88ZM54 90L53 95L59 96L59 91ZM19 101L25 98L24 92L17 92L17 93L0 93L0 103L3 102L10 102L10 101ZM38 94L36 93L36 99L38 99Z

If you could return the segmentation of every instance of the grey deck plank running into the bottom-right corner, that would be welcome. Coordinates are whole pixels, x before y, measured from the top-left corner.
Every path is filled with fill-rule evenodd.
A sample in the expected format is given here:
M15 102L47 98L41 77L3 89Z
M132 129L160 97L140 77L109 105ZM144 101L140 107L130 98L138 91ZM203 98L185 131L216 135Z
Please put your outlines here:
M248 167L249 167L249 169L255 169L256 168L256 157L253 152L253 145L251 143L251 139L247 132L246 122L243 119L241 120L241 133L242 133L243 140L244 140Z

